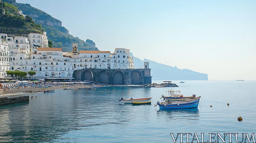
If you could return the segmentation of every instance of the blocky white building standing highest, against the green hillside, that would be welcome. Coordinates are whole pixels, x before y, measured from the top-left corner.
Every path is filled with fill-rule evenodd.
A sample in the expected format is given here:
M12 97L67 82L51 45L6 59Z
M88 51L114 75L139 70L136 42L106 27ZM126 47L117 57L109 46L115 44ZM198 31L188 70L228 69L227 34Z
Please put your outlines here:
M49 47L46 32L43 32L43 34L30 33L28 34L28 40L30 41L31 47Z

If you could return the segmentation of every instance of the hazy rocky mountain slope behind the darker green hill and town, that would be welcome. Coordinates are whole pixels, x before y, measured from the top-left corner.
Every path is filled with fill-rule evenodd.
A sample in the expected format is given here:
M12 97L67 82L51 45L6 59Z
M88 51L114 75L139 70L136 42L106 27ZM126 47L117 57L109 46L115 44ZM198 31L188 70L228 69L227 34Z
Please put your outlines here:
M25 15L29 15L33 21L36 22L36 24L41 24L42 28L44 28L44 30L47 32L48 39L52 41L52 47L62 47L63 51L72 51L72 43L78 43L78 50L98 50L92 40L87 39L84 41L78 37L70 35L68 33L68 29L62 26L62 22L59 19L53 18L50 14L32 7L30 4L16 3L16 0L2 1L17 6L18 10L23 11L23 14ZM1 26L1 28L3 29L5 27ZM12 27L5 29L10 28ZM20 29L22 30L22 27L19 28L19 30ZM27 29L27 27L24 28L26 31Z

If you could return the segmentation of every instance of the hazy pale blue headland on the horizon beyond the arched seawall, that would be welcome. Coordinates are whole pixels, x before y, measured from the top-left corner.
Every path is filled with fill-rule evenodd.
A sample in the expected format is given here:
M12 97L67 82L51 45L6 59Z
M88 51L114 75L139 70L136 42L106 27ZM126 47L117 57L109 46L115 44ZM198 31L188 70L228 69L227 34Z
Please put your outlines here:
M131 56L132 53L130 53ZM149 62L151 68L152 80L208 80L208 75L204 73L194 72L188 69L178 69L165 64L156 63L148 59L143 61L133 56L134 66L143 66L144 62Z

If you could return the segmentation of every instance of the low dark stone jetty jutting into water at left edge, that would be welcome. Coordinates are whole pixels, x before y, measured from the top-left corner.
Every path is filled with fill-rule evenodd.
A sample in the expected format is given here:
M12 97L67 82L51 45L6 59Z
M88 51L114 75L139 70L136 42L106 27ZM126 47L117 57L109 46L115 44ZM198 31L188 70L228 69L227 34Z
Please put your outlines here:
M7 105L18 102L28 102L29 94L6 94L0 95L0 105Z

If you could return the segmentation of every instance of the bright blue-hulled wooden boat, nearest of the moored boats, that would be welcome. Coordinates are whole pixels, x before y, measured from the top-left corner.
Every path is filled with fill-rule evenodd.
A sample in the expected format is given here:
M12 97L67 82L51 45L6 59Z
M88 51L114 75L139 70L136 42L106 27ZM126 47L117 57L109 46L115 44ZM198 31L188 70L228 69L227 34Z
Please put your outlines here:
M196 97L194 100L183 101L183 102L157 102L155 107L158 105L160 109L184 109L184 108L197 108L201 96Z

